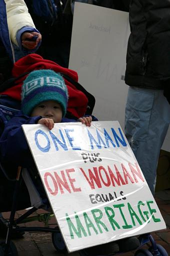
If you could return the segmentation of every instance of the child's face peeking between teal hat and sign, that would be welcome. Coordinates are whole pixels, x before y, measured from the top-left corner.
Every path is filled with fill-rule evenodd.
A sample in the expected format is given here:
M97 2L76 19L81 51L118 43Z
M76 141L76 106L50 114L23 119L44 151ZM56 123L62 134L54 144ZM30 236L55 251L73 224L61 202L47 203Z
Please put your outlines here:
M60 122L62 119L62 108L60 104L54 100L42 101L34 107L30 116L38 115L41 115L44 118L50 118L54 122Z

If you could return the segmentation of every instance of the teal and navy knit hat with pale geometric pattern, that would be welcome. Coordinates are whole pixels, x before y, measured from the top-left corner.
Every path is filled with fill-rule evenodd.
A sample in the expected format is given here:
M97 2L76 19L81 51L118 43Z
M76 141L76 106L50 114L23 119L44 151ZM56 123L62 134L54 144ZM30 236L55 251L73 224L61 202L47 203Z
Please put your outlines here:
M21 90L21 110L30 115L33 108L46 100L57 101L66 113L68 92L61 75L50 69L40 69L29 73L23 81Z

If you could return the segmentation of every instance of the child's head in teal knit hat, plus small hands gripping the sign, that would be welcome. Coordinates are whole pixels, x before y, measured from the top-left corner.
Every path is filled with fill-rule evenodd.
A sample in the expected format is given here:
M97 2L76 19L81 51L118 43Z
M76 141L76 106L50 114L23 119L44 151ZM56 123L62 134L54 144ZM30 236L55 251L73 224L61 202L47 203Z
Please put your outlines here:
M21 101L22 112L31 117L42 116L37 123L45 124L49 130L54 123L72 121L62 119L66 113L68 92L63 78L52 70L31 72L23 83ZM78 120L90 126L92 117Z

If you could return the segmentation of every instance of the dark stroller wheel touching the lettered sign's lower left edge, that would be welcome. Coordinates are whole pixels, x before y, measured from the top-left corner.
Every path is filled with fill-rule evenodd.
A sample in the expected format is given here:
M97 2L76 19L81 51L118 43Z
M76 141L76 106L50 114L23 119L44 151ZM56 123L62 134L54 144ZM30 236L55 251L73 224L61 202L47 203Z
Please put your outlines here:
M57 252L64 253L67 251L62 235L59 231L52 233L52 243Z

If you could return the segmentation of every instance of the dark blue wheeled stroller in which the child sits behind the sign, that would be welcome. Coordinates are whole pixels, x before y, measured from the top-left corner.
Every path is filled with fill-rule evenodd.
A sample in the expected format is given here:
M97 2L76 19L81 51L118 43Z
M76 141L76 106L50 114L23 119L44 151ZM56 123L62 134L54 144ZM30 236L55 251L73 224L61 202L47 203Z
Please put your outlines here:
M69 78L67 78L69 79ZM80 87L79 87L80 88ZM82 87L83 88L83 87ZM84 90L84 89L83 89ZM86 91L85 91L86 92ZM14 115L19 108L18 102L9 100L8 97L3 97L4 104L0 105L0 122L1 122L1 131L3 130L3 124L8 121L9 118ZM88 93L88 108L87 108L87 114L91 114L95 99L94 97ZM70 113L67 113L67 117L70 116ZM71 116L72 117L72 116ZM35 212L38 208L44 208L47 211L50 211L50 206L48 203L47 198L43 195L43 193L37 191L35 189L34 181L31 179L31 174L26 169L21 169L18 167L16 178L11 178L6 170L3 168L2 164L0 163L0 175L3 177L1 181L5 181L3 184L8 184L9 189L9 200L5 200L6 202L0 202L1 209L0 211L11 211L9 221L6 221L1 216L0 219L4 221L4 223L7 225L7 234L6 234L6 240L0 241L0 256L5 255L11 255L16 256L17 249L14 245L14 243L11 241L11 232L12 229L15 229L15 231L43 231L43 232L51 232L52 233L52 243L56 249L57 252L64 253L66 252L66 246L64 244L64 241L62 239L62 236L60 234L59 228L49 228L49 227L20 227L18 224L30 221L30 220L36 220L36 217L29 217L30 214ZM0 184L0 187L3 185ZM37 185L37 184L36 184ZM37 187L37 186L36 186ZM3 188L0 188L3 189ZM22 191L22 194L24 193L24 200L22 198L19 198L19 195L21 195L20 191ZM23 192L24 191L24 192ZM2 194L2 193L1 193ZM13 194L12 198L11 195ZM24 209L27 207L31 208L27 210L23 215L21 215L16 220L14 219L15 211L19 209ZM47 223L48 219L52 216L51 213L44 213L38 216L40 220L43 220L44 223ZM30 219L31 218L31 219ZM165 249L156 244L154 239L150 234L145 234L139 236L140 245L150 242L151 246L149 250L146 249L137 249L135 252L135 256L167 256L167 252ZM79 254L81 256L92 256L87 253L87 251L81 250L79 251Z

